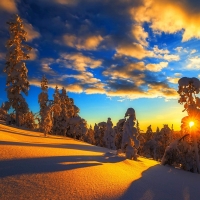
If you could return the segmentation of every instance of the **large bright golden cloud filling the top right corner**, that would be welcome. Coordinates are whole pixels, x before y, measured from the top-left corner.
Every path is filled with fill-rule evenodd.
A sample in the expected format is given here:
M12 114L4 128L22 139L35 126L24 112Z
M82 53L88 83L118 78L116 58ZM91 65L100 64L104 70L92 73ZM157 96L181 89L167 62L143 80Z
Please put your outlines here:
M196 0L144 0L143 5L130 9L138 23L148 22L154 32L182 32L182 41L200 38L200 3Z

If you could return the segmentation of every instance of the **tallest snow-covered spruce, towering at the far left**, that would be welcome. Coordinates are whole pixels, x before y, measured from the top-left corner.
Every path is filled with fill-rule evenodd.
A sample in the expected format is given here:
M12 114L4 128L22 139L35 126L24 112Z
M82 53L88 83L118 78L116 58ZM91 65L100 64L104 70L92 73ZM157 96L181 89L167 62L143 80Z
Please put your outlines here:
M31 47L23 43L26 41L27 32L18 15L7 24L9 25L10 39L6 43L8 53L4 68L4 72L7 74L6 90L10 106L16 112L16 125L19 126L19 115L28 112L28 105L21 93L28 95L28 69L24 61L30 58L27 52L31 50Z

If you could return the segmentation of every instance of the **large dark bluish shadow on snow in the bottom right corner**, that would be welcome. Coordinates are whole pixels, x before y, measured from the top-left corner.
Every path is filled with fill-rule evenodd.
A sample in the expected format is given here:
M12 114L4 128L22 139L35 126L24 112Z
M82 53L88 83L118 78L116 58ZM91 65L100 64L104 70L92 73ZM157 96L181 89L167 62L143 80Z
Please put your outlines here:
M156 165L142 173L118 200L199 200L200 175Z

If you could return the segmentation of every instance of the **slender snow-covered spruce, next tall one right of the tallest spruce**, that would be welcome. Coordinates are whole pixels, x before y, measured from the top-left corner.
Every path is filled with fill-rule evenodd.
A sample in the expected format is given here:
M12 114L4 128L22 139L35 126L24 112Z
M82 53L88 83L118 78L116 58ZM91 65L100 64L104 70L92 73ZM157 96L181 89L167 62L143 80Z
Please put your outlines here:
M43 76L41 80L41 89L42 92L38 96L38 102L40 104L39 129L46 136L51 131L53 122L52 122L52 105L49 103L48 93L47 93L48 81L45 78L45 76Z

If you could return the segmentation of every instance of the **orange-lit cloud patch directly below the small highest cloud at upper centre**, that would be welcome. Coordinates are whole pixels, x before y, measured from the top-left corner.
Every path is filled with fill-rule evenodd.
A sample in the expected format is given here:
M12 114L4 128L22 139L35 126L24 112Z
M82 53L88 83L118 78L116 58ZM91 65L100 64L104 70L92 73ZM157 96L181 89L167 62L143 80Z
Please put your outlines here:
M90 57L84 56L82 53L63 53L61 54L61 59L63 59L66 62L66 67L78 71L85 71L86 68L98 68L102 64L101 60L94 60Z

